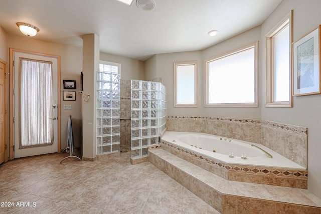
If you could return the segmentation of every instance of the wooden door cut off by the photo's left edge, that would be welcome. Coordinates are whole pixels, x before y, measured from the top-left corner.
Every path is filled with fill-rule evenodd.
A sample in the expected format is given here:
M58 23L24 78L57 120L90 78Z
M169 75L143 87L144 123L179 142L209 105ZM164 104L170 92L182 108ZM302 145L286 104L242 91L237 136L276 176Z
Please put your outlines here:
M5 162L6 157L6 103L7 103L7 85L6 85L6 63L0 59L0 164Z

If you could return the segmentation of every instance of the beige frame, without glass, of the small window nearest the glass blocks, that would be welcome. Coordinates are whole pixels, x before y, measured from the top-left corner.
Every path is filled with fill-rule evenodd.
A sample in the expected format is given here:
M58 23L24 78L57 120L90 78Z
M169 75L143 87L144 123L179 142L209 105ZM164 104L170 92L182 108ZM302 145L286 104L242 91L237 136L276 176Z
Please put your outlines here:
M179 104L177 103L177 68L178 66L194 65L194 104ZM174 63L174 107L198 107L198 85L197 85L197 61L185 61L185 62L175 62Z

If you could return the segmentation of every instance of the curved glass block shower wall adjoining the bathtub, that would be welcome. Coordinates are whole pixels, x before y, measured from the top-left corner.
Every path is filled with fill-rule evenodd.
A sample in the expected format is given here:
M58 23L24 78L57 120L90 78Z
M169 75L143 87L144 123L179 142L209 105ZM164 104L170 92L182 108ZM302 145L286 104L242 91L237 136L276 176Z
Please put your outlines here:
M148 156L166 128L166 87L162 83L131 80L131 158Z

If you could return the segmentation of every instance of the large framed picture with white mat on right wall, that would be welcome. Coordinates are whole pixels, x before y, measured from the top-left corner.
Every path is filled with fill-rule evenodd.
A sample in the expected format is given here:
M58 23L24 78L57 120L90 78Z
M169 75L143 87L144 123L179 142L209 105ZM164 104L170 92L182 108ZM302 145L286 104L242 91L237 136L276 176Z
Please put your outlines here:
M320 27L293 43L293 96L321 93Z

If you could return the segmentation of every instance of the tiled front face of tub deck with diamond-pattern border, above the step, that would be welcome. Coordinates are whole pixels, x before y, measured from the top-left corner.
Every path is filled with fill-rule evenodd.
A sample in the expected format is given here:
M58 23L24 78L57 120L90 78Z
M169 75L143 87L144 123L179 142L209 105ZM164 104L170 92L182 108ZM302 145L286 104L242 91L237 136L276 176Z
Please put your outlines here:
M307 170L228 164L187 148L180 148L179 146L164 140L161 140L161 143L158 145L148 147L148 149L157 148L162 148L171 152L227 180L307 188ZM203 163L206 163L206 165ZM245 177L237 176L237 174L244 175ZM263 179L262 177L266 179ZM282 180L280 180L280 178Z

